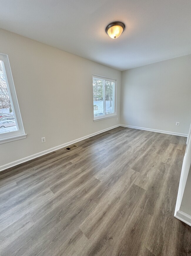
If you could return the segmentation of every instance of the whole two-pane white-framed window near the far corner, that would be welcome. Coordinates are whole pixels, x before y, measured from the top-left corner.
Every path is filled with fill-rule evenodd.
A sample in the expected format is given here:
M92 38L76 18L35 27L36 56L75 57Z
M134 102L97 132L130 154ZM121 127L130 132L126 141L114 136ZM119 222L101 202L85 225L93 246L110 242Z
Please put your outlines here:
M94 121L116 116L116 80L93 76Z

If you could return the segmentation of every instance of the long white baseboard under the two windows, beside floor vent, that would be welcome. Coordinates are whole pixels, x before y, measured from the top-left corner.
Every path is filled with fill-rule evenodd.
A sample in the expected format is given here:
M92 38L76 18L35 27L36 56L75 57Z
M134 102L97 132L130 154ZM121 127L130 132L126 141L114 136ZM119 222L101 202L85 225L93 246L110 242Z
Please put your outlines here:
M39 153L33 154L33 155L31 155L31 156L26 156L26 157L24 157L24 158L21 158L21 159L19 159L19 160L16 160L16 161L14 161L14 162L9 163L9 164L4 164L4 165L0 166L0 172L3 171L3 170L5 170L5 169L8 169L8 168L10 168L10 167L14 167L14 166L16 166L16 165L18 165L18 164L22 164L22 163L27 162L27 161L29 161L29 160L35 159L35 158L37 158L37 157L39 157L39 156L43 156L43 155L46 155L46 154L51 153L51 152L53 152L53 151L56 151L56 150L58 150L58 149L62 149L62 148L64 148L64 147L67 147L67 146L69 146L69 145L71 145L71 144L74 144L74 143L76 143L76 142L79 142L79 141L85 140L85 139L87 139L87 138L93 137L93 136L95 136L95 135L97 135L97 134L100 134L100 133L109 131L109 130L111 130L111 129L117 128L117 127L119 127L119 126L120 126L120 125L115 125L115 126L112 126L112 127L110 127L110 128L106 128L106 129L104 129L104 130L101 130L101 131L98 131L98 132L95 132L95 133L91 133L91 134L89 134L89 135L87 135L87 136L83 136L83 137L78 138L78 139L76 139L76 140L66 142L66 143L61 144L61 145L59 145L59 146L53 147L53 148L51 148L51 149L46 149L46 150L41 151L41 152L39 152Z

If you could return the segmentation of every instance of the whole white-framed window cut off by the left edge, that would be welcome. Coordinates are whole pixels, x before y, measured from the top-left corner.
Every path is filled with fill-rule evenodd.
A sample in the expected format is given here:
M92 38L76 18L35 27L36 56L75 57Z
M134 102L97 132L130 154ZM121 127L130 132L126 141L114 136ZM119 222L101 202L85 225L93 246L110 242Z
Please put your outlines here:
M10 120L10 121L6 121ZM0 144L26 138L6 54L0 53Z

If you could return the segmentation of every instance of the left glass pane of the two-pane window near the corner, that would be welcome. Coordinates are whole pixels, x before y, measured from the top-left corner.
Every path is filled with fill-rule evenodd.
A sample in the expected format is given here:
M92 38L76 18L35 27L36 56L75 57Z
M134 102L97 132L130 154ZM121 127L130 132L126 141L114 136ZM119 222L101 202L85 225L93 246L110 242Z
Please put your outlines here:
M94 116L103 115L103 80L93 78L93 112Z

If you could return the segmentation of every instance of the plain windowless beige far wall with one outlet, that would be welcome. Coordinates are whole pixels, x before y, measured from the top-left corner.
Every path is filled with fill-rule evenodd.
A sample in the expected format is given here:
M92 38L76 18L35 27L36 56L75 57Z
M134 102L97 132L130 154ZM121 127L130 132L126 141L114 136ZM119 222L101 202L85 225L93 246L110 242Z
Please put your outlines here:
M122 72L121 124L188 134L190 122L191 55Z

